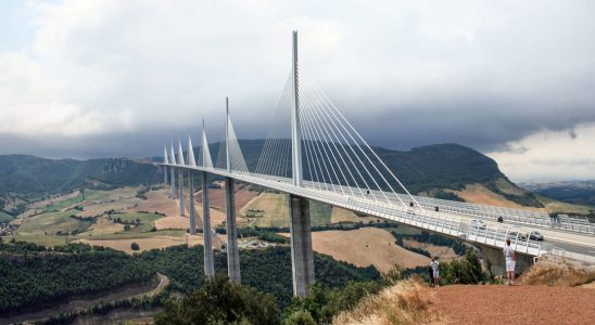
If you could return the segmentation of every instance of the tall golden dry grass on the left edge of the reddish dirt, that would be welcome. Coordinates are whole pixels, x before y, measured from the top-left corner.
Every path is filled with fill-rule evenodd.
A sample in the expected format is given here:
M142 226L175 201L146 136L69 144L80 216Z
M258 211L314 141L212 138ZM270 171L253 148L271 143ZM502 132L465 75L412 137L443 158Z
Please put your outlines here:
M365 297L353 310L340 313L333 324L420 324L438 320L430 310L431 294L418 281L396 283Z

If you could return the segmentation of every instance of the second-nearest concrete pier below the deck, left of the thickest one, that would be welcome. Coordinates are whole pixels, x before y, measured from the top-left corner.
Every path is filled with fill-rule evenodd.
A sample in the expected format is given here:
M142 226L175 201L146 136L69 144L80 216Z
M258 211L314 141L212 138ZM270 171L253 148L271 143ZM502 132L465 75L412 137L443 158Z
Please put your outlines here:
M236 224L236 184L233 179L225 179L225 211L227 233L227 275L231 282L240 283L240 252L238 250L238 226Z

